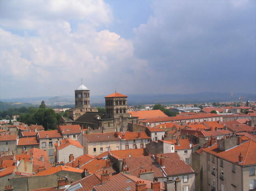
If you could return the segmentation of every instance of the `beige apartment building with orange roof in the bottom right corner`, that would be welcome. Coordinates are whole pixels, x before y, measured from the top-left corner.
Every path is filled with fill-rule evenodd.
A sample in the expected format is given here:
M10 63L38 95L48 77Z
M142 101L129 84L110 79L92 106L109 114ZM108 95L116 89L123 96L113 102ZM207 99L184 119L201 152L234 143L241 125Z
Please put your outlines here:
M255 190L256 143L231 137L202 149L202 179L205 191Z

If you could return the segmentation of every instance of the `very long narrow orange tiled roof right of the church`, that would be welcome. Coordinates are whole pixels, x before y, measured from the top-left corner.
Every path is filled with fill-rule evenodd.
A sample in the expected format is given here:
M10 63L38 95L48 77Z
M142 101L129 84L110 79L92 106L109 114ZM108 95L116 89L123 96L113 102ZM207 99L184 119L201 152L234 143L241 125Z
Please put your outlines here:
M143 120L142 122L165 122L165 121L175 121L175 120L189 120L189 119L197 119L197 118L208 118L208 117L222 117L215 113L198 113L197 115L189 115L189 116L173 116L173 117L158 117L158 118L148 118Z

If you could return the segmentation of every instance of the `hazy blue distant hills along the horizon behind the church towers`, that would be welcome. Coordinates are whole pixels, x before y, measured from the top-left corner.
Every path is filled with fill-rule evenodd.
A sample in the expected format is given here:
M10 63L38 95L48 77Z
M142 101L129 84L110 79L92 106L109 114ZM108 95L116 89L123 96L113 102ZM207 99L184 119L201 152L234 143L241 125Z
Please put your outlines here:
M194 94L128 94L128 104L143 105L143 104L194 104L194 103L208 103L208 102L239 102L239 97L245 97L243 101L256 101L256 94L249 93L234 93L232 98L230 93L194 93ZM46 106L52 108L74 107L74 96L54 96L54 97L34 97L34 98L9 98L0 99L0 110L6 110L9 107L30 107L39 106L44 100ZM17 103L18 102L18 103ZM26 104L25 104L26 103ZM25 104L25 105L22 105ZM91 95L92 107L104 107L104 95ZM5 108L5 109L2 109Z

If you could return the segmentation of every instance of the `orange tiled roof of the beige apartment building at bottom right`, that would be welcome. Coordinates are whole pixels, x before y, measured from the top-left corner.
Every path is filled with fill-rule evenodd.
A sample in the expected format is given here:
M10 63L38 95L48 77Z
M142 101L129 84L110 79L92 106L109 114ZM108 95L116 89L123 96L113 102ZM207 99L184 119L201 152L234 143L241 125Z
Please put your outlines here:
M203 151L224 158L225 160L228 160L230 162L234 162L237 165L256 164L256 142L252 140L244 142L226 151L219 150L217 144L211 147L204 148ZM243 162L241 163L238 162L238 156L240 153L243 156Z

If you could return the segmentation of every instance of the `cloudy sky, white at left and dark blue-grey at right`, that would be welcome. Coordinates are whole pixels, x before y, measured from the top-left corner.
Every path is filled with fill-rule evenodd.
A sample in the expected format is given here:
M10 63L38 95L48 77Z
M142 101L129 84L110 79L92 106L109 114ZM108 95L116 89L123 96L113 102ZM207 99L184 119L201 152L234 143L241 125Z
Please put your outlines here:
M2 0L0 98L256 93L255 0Z

